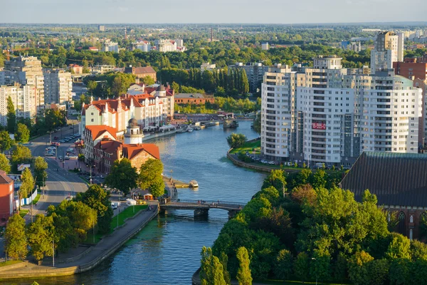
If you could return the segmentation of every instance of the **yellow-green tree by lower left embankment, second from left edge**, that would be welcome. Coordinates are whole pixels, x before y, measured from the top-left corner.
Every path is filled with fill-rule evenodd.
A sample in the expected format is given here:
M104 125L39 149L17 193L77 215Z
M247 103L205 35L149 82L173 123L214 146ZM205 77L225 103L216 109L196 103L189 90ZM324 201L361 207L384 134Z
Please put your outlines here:
M31 253L37 260L43 257L53 255L53 241L55 248L58 247L58 238L54 234L53 218L38 214L36 220L28 227L28 244L31 247Z

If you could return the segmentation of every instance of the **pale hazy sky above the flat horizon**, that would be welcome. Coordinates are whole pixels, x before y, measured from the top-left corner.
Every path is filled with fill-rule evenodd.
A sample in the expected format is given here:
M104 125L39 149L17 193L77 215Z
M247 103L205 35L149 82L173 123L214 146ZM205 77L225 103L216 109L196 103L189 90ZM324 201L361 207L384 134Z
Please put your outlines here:
M0 0L1 23L361 23L427 21L426 0ZM14 4L12 4L14 3Z

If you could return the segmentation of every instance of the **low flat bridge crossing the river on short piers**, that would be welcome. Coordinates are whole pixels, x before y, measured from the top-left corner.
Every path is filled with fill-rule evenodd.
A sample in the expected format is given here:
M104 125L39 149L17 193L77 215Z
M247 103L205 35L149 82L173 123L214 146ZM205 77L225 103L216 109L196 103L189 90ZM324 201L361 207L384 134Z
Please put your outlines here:
M165 209L191 209L194 210L194 217L206 216L209 209L224 209L228 211L228 217L234 217L244 206L242 203L226 201L204 201L204 200L183 200L177 199L169 201L163 199L160 202L160 210Z

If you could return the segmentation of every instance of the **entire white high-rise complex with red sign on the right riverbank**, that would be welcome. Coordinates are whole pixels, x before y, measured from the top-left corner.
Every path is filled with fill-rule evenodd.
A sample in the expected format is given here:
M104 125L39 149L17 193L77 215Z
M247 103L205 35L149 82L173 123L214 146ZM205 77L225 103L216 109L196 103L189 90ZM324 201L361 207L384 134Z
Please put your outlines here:
M422 90L392 71L347 74L341 58L269 68L262 84L261 152L268 160L349 166L364 150L417 152Z

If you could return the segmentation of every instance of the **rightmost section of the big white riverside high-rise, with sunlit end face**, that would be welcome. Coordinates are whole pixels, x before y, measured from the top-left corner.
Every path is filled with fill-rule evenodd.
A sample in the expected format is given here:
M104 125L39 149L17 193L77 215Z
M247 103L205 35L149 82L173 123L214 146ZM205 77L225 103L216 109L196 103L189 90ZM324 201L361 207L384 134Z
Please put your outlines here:
M367 151L418 152L423 93L394 71L377 72L364 90L361 146Z

